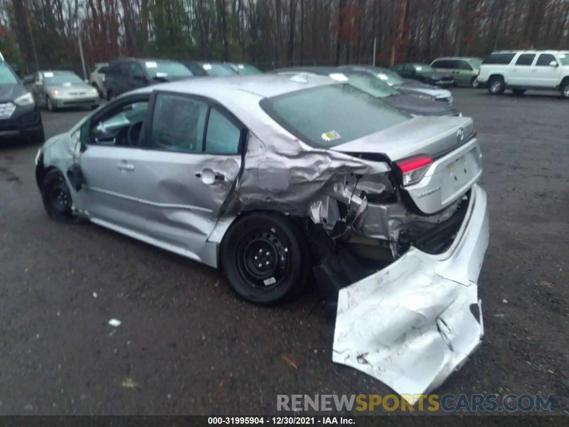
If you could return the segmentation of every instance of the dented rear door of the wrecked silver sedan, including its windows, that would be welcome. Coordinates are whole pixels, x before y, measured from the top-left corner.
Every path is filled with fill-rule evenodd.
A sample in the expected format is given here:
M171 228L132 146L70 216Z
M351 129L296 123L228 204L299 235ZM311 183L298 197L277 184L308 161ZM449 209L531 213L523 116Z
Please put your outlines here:
M240 172L246 130L207 98L171 92L153 98L137 159L147 234L199 258Z

